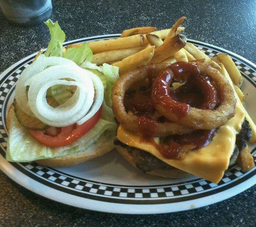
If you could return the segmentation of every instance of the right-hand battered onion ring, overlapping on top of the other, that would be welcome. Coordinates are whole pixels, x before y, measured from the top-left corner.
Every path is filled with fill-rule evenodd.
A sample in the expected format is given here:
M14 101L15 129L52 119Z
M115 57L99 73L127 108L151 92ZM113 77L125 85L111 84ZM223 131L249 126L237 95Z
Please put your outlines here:
M210 65L206 65L205 63L197 63L197 66L200 73L209 76L210 79L215 83L216 88L218 89L220 104L216 109L198 109L182 103L183 105L186 105L186 107L189 106L189 110L186 109L186 112L183 116L178 116L177 113L172 111L170 108L166 108L166 105L174 102L170 95L167 94L163 98L163 96L157 94L159 87L161 86L163 81L160 81L160 84L153 84L151 98L152 100L155 100L153 104L156 110L162 113L163 116L165 116L167 119L171 120L171 122L175 122L195 130L215 129L216 127L224 125L227 120L234 116L236 98L234 97L230 83L225 79L222 74L218 72L217 69L214 69Z

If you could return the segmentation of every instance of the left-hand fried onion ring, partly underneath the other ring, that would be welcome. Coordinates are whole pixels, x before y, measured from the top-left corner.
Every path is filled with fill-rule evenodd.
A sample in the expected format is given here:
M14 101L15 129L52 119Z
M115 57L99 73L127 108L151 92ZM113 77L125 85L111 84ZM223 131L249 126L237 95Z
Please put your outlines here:
M170 64L160 63L155 65L147 65L136 68L121 77L116 81L113 87L112 100L113 112L120 124L127 129L139 131L138 117L126 112L123 104L123 98L126 91L135 83L146 80L149 77L156 77L159 73L167 68ZM152 136L164 137L170 134L185 134L193 130L175 123L158 123L156 130Z

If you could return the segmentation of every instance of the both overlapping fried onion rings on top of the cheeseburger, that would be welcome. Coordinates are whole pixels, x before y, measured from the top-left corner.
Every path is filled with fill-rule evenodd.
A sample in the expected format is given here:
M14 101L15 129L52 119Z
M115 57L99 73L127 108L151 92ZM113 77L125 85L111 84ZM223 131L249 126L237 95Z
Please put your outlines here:
M161 102L153 102L155 109L162 113L170 122L158 122L153 137L165 137L176 134L185 134L195 130L210 130L224 125L227 120L232 118L235 113L236 98L233 90L225 77L206 63L197 62L196 64L201 74L207 75L215 84L219 96L219 105L215 109L198 109L189 107L187 113L179 117L173 111L163 108ZM139 118L136 115L127 113L124 107L124 95L133 84L149 79L156 79L161 72L167 71L173 74L169 64L160 63L147 65L132 70L121 76L113 88L113 111L118 122L129 130L139 131ZM183 80L183 78L182 78ZM154 89L154 84L153 84ZM167 97L170 100L171 96ZM152 92L151 100L154 99Z

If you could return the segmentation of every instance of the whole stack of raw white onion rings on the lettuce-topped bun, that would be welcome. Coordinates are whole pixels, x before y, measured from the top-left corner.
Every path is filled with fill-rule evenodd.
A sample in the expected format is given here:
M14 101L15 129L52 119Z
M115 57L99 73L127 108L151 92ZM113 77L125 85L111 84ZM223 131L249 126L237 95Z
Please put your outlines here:
M50 126L83 124L100 109L103 102L104 88L99 77L66 60L59 57L38 58L20 75L16 87L19 107ZM65 78L74 81L63 80ZM77 90L70 100L53 108L47 103L46 92L57 84L77 86ZM28 93L26 86L29 86Z

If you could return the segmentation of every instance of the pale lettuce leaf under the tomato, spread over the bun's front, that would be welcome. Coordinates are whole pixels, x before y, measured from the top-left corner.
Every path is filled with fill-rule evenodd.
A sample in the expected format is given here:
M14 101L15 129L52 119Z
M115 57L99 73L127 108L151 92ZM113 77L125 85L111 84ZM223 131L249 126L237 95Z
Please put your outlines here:
M79 152L93 152L92 147L104 146L102 139L106 137L113 144L116 124L100 119L99 122L79 140L64 147L47 147L34 139L27 130L18 123L14 111L11 111L10 129L6 159L13 162L29 162L38 159L56 158ZM104 133L104 138L102 134ZM104 142L105 143L105 142ZM111 147L113 148L113 147ZM111 149L110 149L111 150Z

